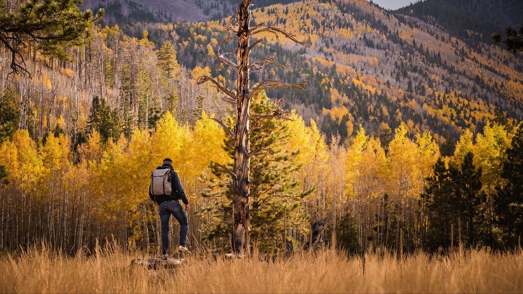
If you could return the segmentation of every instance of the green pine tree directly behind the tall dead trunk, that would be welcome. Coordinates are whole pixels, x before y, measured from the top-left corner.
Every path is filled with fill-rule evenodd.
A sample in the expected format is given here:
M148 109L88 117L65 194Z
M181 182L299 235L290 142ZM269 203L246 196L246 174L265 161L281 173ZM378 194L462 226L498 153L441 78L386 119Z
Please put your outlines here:
M264 92L256 95L251 104L253 114L265 114L271 109L274 105ZM299 203L312 190L300 193L299 183L291 176L299 167L294 163L297 152L284 149L289 130L281 120L256 120L251 130L251 146L253 150L260 150L251 161L251 239L261 251L271 252L283 248L286 222L305 223L305 217L298 210ZM224 145L225 150L233 150L230 138L225 139ZM233 155L229 153L231 162ZM211 166L217 180L210 181L206 196L211 204L205 213L211 213L217 221L210 223L206 239L226 250L230 247L233 192L223 168Z

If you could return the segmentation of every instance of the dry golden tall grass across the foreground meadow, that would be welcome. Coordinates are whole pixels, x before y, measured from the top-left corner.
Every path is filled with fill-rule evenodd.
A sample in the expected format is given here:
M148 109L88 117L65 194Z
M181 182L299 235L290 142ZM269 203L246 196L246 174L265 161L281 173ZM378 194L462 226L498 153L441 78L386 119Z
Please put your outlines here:
M131 267L135 257L115 249L91 257L47 249L4 255L0 292L523 292L523 253L367 254L362 259L323 251L275 262L199 256L160 270Z

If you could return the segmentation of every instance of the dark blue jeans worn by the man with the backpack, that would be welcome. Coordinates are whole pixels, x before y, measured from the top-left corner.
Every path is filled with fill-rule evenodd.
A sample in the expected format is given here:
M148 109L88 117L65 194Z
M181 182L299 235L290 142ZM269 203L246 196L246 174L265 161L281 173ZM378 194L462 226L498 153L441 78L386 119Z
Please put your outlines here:
M158 205L158 214L160 214L160 221L162 222L162 253L166 254L169 250L169 218L171 214L180 223L180 246L185 246L189 225L184 208L181 207L180 202L168 200L160 203Z

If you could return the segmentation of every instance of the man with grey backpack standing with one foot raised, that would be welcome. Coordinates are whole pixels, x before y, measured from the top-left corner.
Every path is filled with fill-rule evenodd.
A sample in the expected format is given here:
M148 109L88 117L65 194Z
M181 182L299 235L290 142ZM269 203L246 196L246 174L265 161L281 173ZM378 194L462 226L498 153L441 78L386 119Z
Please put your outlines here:
M173 170L173 161L166 158L162 166L158 166L151 175L149 197L156 202L158 214L162 222L162 254L165 256L169 250L169 218L173 214L180 224L180 245L178 250L190 253L185 246L187 237L187 216L180 205L180 199L185 204L185 211L189 212L189 201L185 191L181 188L180 178Z

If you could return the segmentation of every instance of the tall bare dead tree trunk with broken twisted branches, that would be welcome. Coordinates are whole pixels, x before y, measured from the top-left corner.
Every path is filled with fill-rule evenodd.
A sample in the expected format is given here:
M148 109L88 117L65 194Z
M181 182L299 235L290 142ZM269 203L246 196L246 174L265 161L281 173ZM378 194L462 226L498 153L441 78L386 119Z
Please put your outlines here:
M249 73L253 70L264 70L265 65L273 64L284 67L278 64L276 56L269 56L266 60L252 62L249 61L251 50L256 47L263 37L257 37L261 33L272 33L276 37L277 42L281 36L288 38L303 46L309 46L309 41L299 41L292 33L286 32L282 29L266 26L265 23L250 27L251 22L251 6L252 0L244 0L236 14L234 14L229 21L229 25L225 28L231 35L226 37L223 42L228 42L237 38L238 46L235 51L236 63L226 58L223 54L214 56L221 66L229 66L236 72L236 89L233 91L226 85L220 83L218 80L209 75L203 75L198 79L198 84L205 82L213 83L226 96L222 99L236 108L236 122L234 130L230 130L225 123L218 119L219 125L225 130L225 133L231 138L234 138L234 171L219 166L224 169L231 176L231 186L233 190L233 220L232 220L232 235L231 246L235 253L249 252L249 165L252 156L270 152L269 150L251 150L249 145L249 121L251 119L270 119L281 116L284 111L277 107L275 111L264 115L250 115L249 108L251 99L261 91L275 87L298 88L303 89L305 81L301 84L285 84L278 80L266 79L260 81L256 86L250 86ZM252 43L251 43L251 39ZM221 67L220 67L221 68Z

